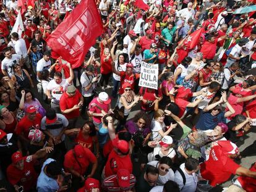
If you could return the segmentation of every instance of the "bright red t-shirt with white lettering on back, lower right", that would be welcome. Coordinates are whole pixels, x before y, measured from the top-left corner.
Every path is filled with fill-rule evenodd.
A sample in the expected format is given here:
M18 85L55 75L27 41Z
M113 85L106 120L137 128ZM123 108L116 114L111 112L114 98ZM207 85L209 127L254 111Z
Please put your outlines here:
M211 186L226 182L241 165L236 164L232 159L221 153L220 146L211 148L208 161L200 164L200 172L204 179L210 181Z

